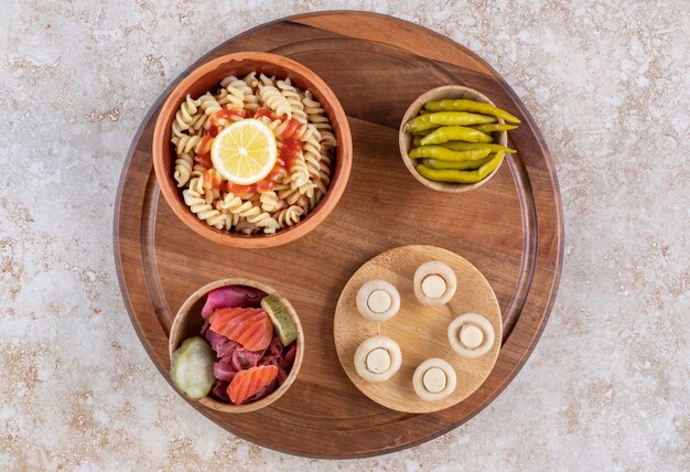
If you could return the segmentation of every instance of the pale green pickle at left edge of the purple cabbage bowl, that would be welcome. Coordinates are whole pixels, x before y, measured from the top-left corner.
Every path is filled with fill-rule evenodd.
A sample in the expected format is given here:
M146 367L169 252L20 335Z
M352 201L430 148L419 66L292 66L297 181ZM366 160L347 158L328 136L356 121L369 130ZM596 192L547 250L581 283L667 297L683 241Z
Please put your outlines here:
M216 377L213 364L216 355L201 336L185 340L173 353L170 376L180 391L193 400L201 400L211 391Z

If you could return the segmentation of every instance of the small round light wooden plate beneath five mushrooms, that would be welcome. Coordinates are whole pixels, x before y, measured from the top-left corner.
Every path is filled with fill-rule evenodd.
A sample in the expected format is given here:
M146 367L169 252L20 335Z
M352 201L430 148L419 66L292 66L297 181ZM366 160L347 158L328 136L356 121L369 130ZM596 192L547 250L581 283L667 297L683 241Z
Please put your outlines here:
M457 277L455 296L441 307L424 307L414 298L414 270L429 260L448 264ZM382 323L360 315L356 303L359 287L377 279L392 283L400 293L400 311ZM496 335L489 352L478 358L455 354L448 341L451 321L468 312L485 317ZM464 400L488 377L498 357L500 308L482 272L467 260L440 247L403 246L376 256L349 279L335 309L333 333L341 364L359 391L397 411L433 412ZM378 334L398 343L402 365L389 380L373 384L357 375L354 356L364 340ZM457 386L442 400L422 401L412 388L412 375L418 365L432 357L441 357L455 368Z

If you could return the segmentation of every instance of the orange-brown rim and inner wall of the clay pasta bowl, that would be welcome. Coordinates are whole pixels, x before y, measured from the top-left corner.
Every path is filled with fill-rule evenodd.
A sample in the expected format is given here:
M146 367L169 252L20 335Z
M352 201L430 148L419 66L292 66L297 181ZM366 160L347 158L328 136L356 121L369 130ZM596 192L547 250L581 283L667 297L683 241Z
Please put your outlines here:
M254 61L257 63L263 63L266 66L278 66L294 73L300 77L304 77L311 82L314 86L310 87L310 92L314 94L321 105L326 110L331 125L333 126L334 133L338 138L338 146L336 147L335 164L333 168L333 175L328 189L319 202L319 205L311 212L304 219L298 224L279 230L272 235L242 235L236 233L223 233L205 222L198 219L190 208L182 201L181 189L177 187L173 180L172 173L169 175L165 171L165 159L173 160L174 155L170 149L170 142L166 138L170 131L170 126L174 119L175 112L180 107L180 104L184 100L187 90L194 86L194 84L207 76L208 74L217 73L216 71L230 64L233 62ZM223 77L218 78L218 83ZM300 78L298 78L300 81ZM321 96L321 97L320 97ZM328 111L328 108L331 111ZM339 136L338 136L339 135ZM225 54L214 60L204 62L192 69L186 77L184 77L175 87L169 93L165 101L163 103L158 118L155 120L155 127L153 131L152 147L152 160L153 170L155 173L155 180L158 183L163 199L171 207L173 213L192 230L200 236L211 239L215 243L223 244L230 247L239 247L246 249L261 249L267 247L281 246L287 243L291 243L311 230L313 230L319 224L321 224L335 208L339 202L347 182L349 180L349 173L352 170L353 161L353 144L352 144L352 131L347 115L343 109L341 101L337 99L335 93L328 87L328 85L313 71L306 66L300 64L291 58L265 53L265 52L237 52L231 54ZM165 152L168 149L168 152Z

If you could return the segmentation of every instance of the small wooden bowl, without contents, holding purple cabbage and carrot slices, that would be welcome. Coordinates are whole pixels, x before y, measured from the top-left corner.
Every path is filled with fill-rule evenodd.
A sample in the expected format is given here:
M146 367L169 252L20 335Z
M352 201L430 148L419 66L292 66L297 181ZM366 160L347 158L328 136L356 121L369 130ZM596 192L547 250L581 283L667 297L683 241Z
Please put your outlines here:
M211 282L196 290L190 296L190 298L186 299L184 303L182 303L182 307L180 307L180 311L177 311L175 320L173 321L173 324L170 329L170 337L168 340L170 360L172 362L173 353L177 347L180 347L184 340L200 335L200 331L204 324L204 319L202 318L202 308L206 302L206 293L214 289L226 286L254 287L265 291L267 294L276 296L283 304L283 307L285 307L285 309L290 312L290 315L298 326L298 352L294 357L294 364L292 365L292 369L290 369L285 382L280 387L278 387L276 391L270 394L268 397L261 398L258 401L254 401L247 405L226 404L224 401L216 400L211 395L198 400L198 403L201 403L202 405L223 412L236 414L255 411L272 404L278 398L280 398L288 390L288 388L290 388L290 386L297 378L298 373L300 372L300 367L302 366L302 358L304 357L304 331L302 329L302 324L300 323L300 319L290 302L282 298L279 293L277 293L272 287L249 279L229 278L216 280L215 282Z

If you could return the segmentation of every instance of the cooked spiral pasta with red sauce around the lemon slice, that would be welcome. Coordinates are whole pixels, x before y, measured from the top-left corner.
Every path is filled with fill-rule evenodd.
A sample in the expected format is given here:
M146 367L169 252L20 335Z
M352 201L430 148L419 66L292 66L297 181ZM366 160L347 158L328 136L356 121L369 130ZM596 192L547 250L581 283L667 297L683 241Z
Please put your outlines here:
M242 119L261 120L276 137L279 160L260 185L231 184L211 159L215 137ZM256 72L228 75L197 98L187 95L173 117L171 143L172 176L192 213L247 235L273 234L306 217L328 191L337 146L310 90Z

